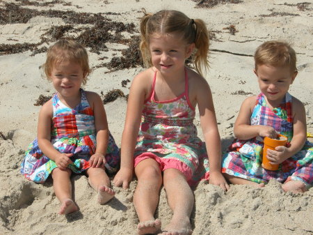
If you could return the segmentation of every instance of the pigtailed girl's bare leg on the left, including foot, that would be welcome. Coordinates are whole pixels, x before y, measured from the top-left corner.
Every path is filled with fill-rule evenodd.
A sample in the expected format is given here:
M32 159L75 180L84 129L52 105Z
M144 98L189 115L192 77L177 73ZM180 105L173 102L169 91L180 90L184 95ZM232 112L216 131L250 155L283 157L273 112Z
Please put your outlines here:
M137 231L139 235L155 234L161 229L161 221L154 219L162 184L159 163L145 159L136 166L135 174L138 185L134 192L134 206L140 221Z

